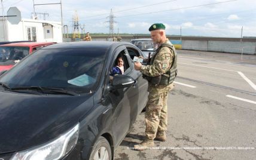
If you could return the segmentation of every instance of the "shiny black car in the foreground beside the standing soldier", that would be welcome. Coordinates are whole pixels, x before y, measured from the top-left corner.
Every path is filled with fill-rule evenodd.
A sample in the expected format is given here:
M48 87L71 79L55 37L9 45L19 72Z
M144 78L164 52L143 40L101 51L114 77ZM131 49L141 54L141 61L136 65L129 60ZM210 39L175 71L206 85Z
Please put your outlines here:
M0 76L0 159L112 159L147 103L128 42L68 42ZM109 76L117 56L124 74Z

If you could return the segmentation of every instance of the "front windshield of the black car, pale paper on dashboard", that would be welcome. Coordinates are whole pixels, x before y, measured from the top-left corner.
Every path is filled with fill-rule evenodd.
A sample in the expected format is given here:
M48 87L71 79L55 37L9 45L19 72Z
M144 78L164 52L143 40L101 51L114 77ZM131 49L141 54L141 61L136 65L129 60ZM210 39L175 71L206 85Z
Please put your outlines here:
M9 88L60 88L89 93L99 82L104 61L105 54L97 50L38 50L1 76L0 82Z

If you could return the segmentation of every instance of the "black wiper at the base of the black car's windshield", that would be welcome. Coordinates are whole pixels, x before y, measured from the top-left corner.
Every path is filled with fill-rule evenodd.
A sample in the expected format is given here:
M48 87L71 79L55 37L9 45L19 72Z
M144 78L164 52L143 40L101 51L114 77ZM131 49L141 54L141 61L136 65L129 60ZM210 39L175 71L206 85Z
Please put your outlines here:
M50 91L51 93L62 93L62 94L68 94L72 96L79 95L74 91L64 90L63 88L56 88L56 87L22 86L22 87L11 88L11 90L41 90L42 92Z

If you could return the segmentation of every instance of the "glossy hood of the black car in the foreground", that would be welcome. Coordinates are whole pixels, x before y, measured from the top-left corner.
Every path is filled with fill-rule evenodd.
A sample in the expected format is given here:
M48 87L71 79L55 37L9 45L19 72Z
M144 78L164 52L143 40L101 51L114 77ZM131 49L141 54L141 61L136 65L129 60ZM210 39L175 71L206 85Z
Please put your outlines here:
M53 140L79 122L93 96L38 96L0 92L0 153Z

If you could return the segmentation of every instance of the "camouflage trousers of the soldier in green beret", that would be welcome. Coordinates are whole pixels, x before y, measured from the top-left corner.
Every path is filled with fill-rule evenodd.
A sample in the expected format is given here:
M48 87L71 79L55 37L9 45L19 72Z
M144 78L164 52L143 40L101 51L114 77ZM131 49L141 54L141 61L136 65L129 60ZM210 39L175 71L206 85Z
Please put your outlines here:
M167 94L150 92L145 112L145 136L148 140L156 138L157 131L167 130Z

